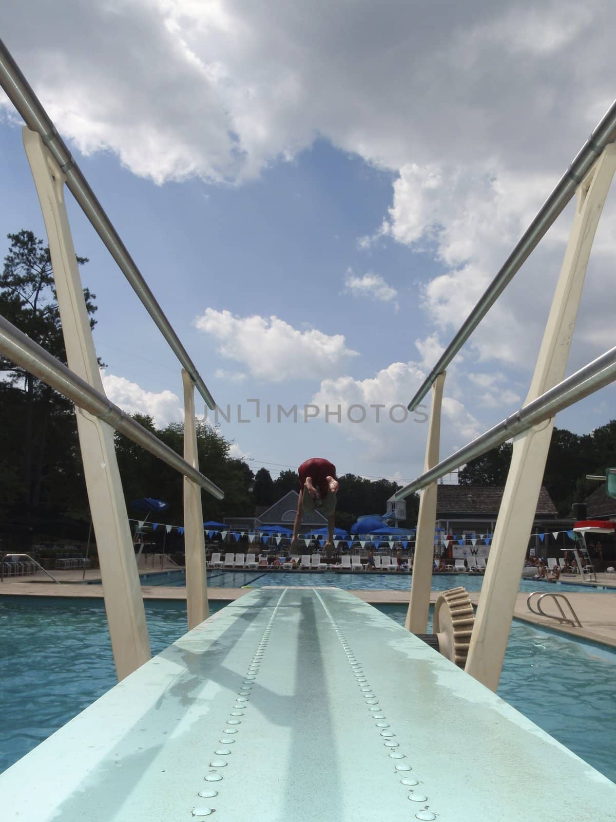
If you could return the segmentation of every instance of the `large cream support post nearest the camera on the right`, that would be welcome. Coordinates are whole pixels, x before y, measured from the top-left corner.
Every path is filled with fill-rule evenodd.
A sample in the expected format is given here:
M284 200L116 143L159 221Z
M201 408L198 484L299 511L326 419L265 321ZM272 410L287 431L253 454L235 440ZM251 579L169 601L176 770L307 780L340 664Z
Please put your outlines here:
M577 188L577 209L526 404L563 379L592 242L614 170L616 145L610 144ZM553 427L554 417L513 441L465 668L494 691L499 685Z

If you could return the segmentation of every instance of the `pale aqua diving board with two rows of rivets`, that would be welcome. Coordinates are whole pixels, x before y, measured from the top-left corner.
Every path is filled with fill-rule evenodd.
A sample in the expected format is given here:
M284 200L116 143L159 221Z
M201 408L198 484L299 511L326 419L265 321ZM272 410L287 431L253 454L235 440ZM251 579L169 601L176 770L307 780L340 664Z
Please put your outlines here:
M616 785L351 593L262 588L7 769L0 807L2 822L563 822L616 819Z

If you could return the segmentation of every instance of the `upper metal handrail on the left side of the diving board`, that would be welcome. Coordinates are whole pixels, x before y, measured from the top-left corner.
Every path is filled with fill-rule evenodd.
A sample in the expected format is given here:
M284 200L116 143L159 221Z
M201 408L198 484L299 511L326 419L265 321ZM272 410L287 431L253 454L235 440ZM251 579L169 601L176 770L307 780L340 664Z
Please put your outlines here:
M40 104L39 99L34 94L29 82L25 79L20 67L12 58L2 39L0 39L0 85L6 91L11 103L21 114L26 126L33 132L39 132L44 144L48 147L53 158L56 159L57 164L62 169L62 173L67 178L68 190L75 197L81 210L93 225L94 230L103 240L109 253L120 267L122 274L144 304L149 316L159 327L177 359L182 363L182 367L191 375L196 389L205 399L209 408L214 410L214 399L197 371L195 363L188 356L163 309L159 306L154 294L149 289L149 285L137 268L136 262L132 259L120 235L113 227L108 215L105 214L103 206L100 205L84 174L76 164L75 159L73 159L67 145L58 134L52 119Z

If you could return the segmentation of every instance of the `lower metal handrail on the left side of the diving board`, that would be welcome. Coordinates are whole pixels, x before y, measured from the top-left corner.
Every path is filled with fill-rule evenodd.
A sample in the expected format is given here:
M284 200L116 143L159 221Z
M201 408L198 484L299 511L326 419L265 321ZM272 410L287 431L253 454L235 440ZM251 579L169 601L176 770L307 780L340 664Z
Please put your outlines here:
M158 436L154 436L147 428L137 423L135 419L113 404L108 397L90 386L90 383L82 380L69 367L53 357L41 345L35 343L34 339L30 339L3 316L0 316L0 352L48 386L55 388L67 399L71 399L80 409L102 419L116 431L148 450L150 454L162 459L172 469L184 474L186 478L204 488L217 500L223 499L224 492L186 462L186 459L182 459L172 448L159 440Z

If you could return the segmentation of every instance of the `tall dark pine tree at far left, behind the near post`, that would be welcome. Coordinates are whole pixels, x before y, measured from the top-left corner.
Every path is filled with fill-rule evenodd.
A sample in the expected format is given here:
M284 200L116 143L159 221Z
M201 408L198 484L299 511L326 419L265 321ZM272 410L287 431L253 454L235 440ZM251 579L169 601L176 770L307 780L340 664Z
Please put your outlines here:
M7 236L11 244L0 275L0 314L66 363L49 249L31 231ZM86 257L76 260L79 265L87 262ZM84 297L94 327L95 295L84 289ZM2 355L0 371L7 373L4 398L7 389L13 390L10 404L18 418L16 442L22 449L15 464L22 465L21 507L30 522L42 504L70 506L67 492L74 496L70 492L76 485L80 487L77 496L83 498L80 464L76 467L76 423L67 399Z

